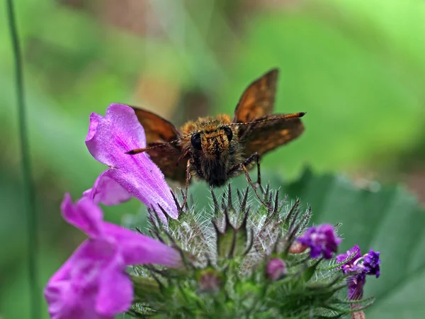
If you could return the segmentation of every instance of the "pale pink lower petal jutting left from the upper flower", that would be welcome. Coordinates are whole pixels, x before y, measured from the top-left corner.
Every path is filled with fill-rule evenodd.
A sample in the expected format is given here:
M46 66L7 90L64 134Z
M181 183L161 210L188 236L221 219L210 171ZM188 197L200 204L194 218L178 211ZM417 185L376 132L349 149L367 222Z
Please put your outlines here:
M83 196L90 198L94 203L103 203L107 206L130 200L131 194L106 173L108 170L98 176L93 187L84 191Z

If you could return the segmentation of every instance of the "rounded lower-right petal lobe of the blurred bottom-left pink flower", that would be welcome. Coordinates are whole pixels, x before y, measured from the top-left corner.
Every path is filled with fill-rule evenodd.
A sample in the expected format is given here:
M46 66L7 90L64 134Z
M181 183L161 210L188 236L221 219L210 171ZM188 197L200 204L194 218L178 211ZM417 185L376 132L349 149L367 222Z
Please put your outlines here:
M132 300L132 281L130 276L125 274L123 259L117 256L102 272L96 298L96 312L102 315L123 313L130 309Z

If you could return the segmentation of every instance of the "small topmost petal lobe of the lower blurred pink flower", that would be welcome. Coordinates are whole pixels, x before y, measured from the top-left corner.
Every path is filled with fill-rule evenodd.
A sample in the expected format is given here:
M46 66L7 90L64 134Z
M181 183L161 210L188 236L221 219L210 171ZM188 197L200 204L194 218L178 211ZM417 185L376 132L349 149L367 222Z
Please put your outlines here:
M91 237L100 235L103 213L101 208L90 201L89 198L83 197L74 205L71 196L65 194L61 211L64 220L83 230L87 235Z

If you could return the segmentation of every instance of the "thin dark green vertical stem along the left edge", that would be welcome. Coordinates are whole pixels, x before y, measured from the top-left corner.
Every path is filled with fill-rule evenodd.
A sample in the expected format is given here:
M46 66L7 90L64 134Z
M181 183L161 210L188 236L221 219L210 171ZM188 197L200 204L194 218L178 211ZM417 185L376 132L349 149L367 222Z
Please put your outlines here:
M15 60L15 77L16 77L16 98L18 101L18 121L19 135L21 141L22 155L22 173L23 173L23 194L26 205L27 215L27 232L28 232L28 275L30 289L30 318L40 318L40 302L38 294L40 293L38 283L38 237L37 237L37 216L35 215L35 196L33 189L33 180L31 174L30 152L28 146L28 132L26 127L26 107L23 89L23 71L22 71L22 55L21 45L18 38L18 30L16 27L15 12L13 8L13 0L6 0L7 15L9 29L11 32L11 41L13 45L13 56Z

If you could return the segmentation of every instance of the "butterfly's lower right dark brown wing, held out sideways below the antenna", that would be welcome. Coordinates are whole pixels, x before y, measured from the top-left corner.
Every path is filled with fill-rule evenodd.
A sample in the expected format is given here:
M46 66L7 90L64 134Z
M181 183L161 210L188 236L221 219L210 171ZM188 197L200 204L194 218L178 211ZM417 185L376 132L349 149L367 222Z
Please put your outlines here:
M280 116L283 114L265 116L263 119ZM294 140L304 131L304 125L300 118L254 123L242 125L239 128L244 129L239 135L244 157L249 157L254 152L258 152L260 156L264 155L266 152Z

